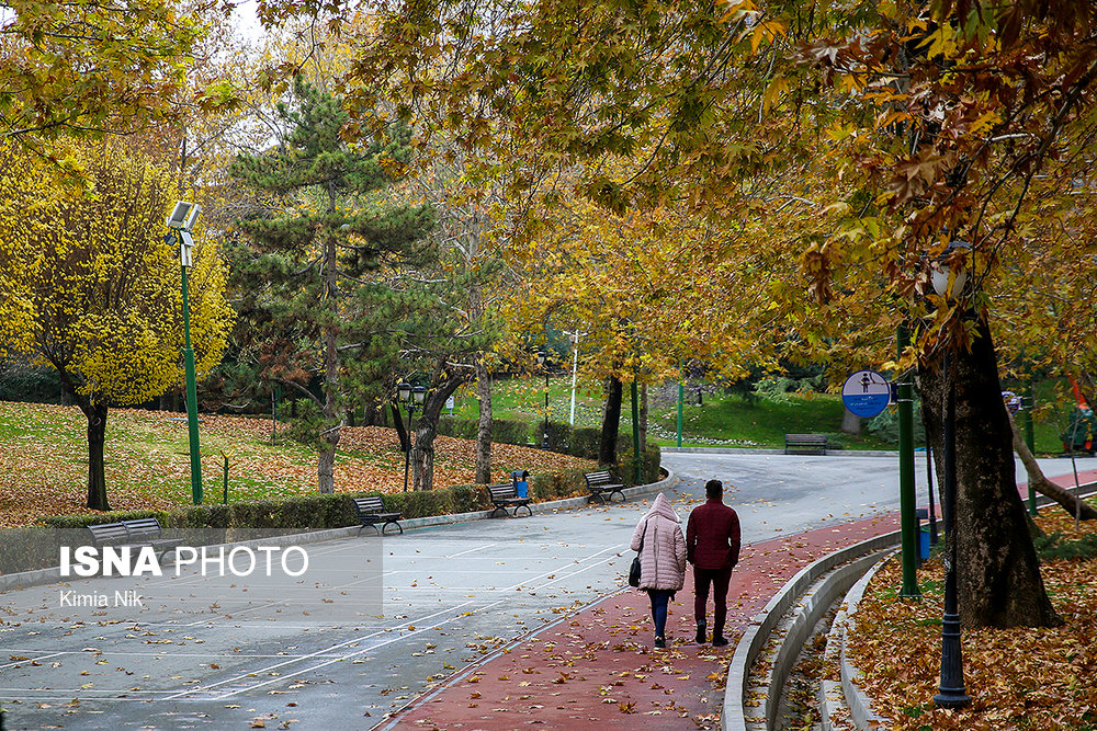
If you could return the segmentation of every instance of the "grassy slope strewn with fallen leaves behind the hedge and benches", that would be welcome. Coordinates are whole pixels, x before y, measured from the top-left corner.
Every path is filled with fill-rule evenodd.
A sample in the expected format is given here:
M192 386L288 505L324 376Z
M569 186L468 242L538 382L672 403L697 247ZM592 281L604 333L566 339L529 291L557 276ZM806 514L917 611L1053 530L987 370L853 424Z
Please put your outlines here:
M280 424L284 429L284 424ZM230 502L314 494L316 455L283 436L271 444L269 419L203 415L200 425L203 490L220 502L228 456ZM439 436L434 486L474 482L476 445ZM105 471L115 510L190 504L186 422L181 414L112 409L108 414ZM530 472L589 468L590 460L508 444L491 448L496 480L512 469ZM76 407L0 401L0 527L44 515L87 512L87 419ZM344 427L336 457L336 490L404 489L404 453L396 432Z

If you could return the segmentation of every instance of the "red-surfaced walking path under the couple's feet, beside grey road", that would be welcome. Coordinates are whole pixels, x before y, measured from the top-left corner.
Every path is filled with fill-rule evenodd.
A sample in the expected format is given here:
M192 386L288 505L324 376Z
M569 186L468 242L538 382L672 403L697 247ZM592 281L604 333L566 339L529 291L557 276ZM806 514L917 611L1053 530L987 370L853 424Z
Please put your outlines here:
M1073 475L1052 479L1074 484ZM1097 480L1097 470L1079 479ZM1027 496L1027 487L1018 490ZM666 650L652 648L647 595L625 589L465 670L376 728L719 728L735 643L778 590L816 559L896 529L893 514L745 546L728 593L726 648L692 641L690 573L671 604Z

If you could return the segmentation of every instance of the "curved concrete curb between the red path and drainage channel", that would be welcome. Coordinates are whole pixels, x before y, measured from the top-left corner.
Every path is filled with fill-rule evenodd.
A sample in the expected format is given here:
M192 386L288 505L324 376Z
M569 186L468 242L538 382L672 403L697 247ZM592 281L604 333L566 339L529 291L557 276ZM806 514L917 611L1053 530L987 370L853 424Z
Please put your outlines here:
M890 548L896 545L898 540L900 532L895 530L882 536L869 538L868 540L862 540L859 544L855 544L848 548L824 556L802 569L800 573L790 579L781 591L779 591L777 595L769 601L761 614L754 618L750 627L747 628L747 630L743 633L743 637L739 638L738 643L735 646L735 653L732 655L732 662L727 670L727 685L724 689L724 708L723 713L721 715L721 728L724 731L747 731L745 701L750 666L761 653L762 648L769 640L770 635L777 627L781 617L789 610L793 603L796 602L812 584L818 581L819 578L836 567L853 561L855 559L862 558L869 553L875 553L885 548ZM856 566L861 567L861 571L866 568L861 562L858 562ZM844 580L847 579L849 579L849 574L844 576ZM825 610L825 607L823 610ZM783 676L788 676L788 672L792 667L792 663L795 662L795 655L792 655L791 652L785 653L784 662L787 663L787 666L781 671L781 673ZM778 674L776 665L777 663L774 663L773 672L774 674ZM768 699L767 703L769 703ZM770 719L768 716L766 718L766 723L767 728L769 728Z

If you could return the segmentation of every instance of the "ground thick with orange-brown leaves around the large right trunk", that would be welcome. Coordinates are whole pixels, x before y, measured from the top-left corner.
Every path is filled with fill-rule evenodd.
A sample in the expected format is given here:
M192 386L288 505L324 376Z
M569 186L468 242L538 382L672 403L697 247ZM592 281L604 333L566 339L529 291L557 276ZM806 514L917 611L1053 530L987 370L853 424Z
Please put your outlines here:
M1086 523L1075 533L1073 518L1058 507L1043 509L1037 523L1049 534L1062 532L1062 541L1097 535L1097 525ZM852 655L874 708L893 719L893 731L1097 730L1097 559L1044 561L1041 573L1066 624L964 630L964 679L973 704L949 711L932 703L945 604L940 560L918 572L920 602L897 597L898 561L878 572L857 610Z

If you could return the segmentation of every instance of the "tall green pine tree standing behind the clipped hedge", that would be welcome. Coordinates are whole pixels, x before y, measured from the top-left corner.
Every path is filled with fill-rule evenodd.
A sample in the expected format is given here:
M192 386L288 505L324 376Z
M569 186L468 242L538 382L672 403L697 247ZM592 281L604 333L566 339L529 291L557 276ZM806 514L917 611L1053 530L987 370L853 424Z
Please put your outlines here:
M270 217L239 222L256 254L246 271L250 299L268 317L262 373L314 406L304 432L319 450L319 490L332 492L346 392L367 375L355 364L377 330L369 302L386 292L363 276L386 261L429 259L422 241L434 215L427 205L392 205L382 196L409 157L406 127L350 144L341 136L348 115L340 99L299 80L294 98L279 105L285 139L265 153L238 156L231 174L273 201ZM309 388L314 375L319 393Z

